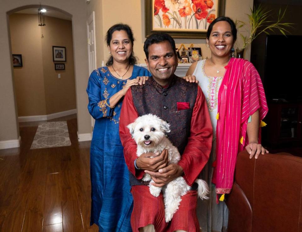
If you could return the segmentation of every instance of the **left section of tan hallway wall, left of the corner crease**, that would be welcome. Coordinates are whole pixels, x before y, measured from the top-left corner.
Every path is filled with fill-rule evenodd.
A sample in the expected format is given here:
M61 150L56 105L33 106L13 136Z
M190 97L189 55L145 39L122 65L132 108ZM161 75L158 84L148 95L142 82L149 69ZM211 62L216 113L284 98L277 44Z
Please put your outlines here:
M23 67L14 68L19 116L46 114L42 40L36 15L9 17L12 53L22 55Z

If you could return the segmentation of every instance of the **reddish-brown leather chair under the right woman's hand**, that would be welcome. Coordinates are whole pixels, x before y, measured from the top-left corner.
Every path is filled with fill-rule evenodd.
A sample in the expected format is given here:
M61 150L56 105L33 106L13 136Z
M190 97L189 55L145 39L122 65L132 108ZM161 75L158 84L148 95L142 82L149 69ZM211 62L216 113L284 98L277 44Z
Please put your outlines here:
M228 232L302 231L302 158L288 153L238 154L226 198Z

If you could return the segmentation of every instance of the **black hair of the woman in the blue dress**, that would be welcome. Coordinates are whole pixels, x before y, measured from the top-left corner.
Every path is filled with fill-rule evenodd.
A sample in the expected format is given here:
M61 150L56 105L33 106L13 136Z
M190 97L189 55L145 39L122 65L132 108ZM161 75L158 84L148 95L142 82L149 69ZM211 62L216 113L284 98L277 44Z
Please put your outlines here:
M129 40L131 41L132 47L133 47L133 42L134 42L134 37L133 37L133 32L131 30L131 27L127 24L115 24L112 27L110 27L107 31L106 37L105 37L105 41L107 43L107 46L110 45L110 41L112 39L112 34L115 31L126 31ZM112 55L110 55L109 59L106 62L106 66L110 66L113 64L113 57ZM129 64L130 65L135 65L137 64L137 59L134 56L134 52L132 50L131 56L129 58Z

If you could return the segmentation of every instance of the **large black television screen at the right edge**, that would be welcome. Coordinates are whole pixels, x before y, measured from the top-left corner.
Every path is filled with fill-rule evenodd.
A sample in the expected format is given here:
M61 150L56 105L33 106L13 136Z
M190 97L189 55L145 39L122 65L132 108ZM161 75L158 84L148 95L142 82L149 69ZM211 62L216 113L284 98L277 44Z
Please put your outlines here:
M267 100L302 101L301 67L302 35L267 35L263 78Z

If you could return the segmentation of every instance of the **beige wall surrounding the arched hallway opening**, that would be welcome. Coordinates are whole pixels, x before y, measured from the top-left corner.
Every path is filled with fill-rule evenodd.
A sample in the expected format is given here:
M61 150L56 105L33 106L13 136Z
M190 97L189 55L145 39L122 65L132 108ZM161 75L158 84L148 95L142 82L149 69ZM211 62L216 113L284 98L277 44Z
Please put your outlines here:
M76 106L78 133L91 133L91 117L87 111L88 53L86 34L86 6L84 0L44 0L46 8L72 16L74 65L76 78ZM15 102L11 42L8 15L25 8L38 8L36 0L2 0L0 8L0 141L19 138Z

